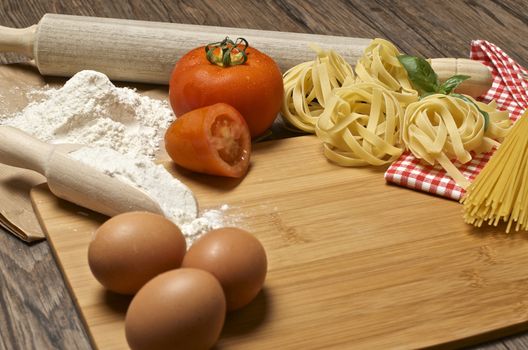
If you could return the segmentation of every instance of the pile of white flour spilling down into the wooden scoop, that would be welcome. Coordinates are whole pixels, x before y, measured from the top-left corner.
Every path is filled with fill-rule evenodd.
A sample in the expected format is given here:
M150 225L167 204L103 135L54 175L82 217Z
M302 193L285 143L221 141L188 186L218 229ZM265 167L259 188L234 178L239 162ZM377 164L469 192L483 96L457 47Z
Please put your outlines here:
M30 94L42 99L19 113L0 115L0 125L50 143L89 145L70 156L150 195L180 227L188 247L201 234L225 226L228 206L198 216L193 193L152 161L174 120L166 102L116 87L105 74L90 70L77 73L60 89Z

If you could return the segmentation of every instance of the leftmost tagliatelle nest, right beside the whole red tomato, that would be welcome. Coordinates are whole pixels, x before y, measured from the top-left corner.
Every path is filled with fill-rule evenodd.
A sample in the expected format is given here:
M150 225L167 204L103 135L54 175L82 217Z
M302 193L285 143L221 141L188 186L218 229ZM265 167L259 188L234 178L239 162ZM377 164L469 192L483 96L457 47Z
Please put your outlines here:
M335 51L312 47L317 57L284 73L284 99L281 113L288 123L314 132L332 90L354 80L352 67Z

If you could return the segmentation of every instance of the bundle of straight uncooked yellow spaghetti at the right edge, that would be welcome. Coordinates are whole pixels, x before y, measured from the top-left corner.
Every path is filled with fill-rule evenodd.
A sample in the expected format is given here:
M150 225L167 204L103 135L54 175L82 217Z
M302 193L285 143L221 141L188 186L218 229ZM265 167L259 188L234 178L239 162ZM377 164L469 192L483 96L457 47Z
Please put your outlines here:
M507 222L506 232L528 229L528 110L484 169L467 188L461 202L464 220L477 227L484 222Z

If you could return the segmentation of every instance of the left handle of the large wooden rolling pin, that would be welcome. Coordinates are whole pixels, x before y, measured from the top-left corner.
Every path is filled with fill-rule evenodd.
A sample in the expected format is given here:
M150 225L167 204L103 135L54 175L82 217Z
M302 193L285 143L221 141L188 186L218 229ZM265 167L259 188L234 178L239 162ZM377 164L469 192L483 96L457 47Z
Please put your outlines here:
M34 58L33 48L37 25L28 28L0 26L0 52L16 52Z

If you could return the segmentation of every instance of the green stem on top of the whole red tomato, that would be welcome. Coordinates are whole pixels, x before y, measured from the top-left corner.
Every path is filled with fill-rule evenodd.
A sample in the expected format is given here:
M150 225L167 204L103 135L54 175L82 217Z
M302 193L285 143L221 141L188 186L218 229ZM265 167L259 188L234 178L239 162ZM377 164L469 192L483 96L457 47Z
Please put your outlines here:
M247 61L246 49L249 44L244 38L237 38L235 42L226 38L222 41L208 44L205 47L207 60L220 67L236 66Z

